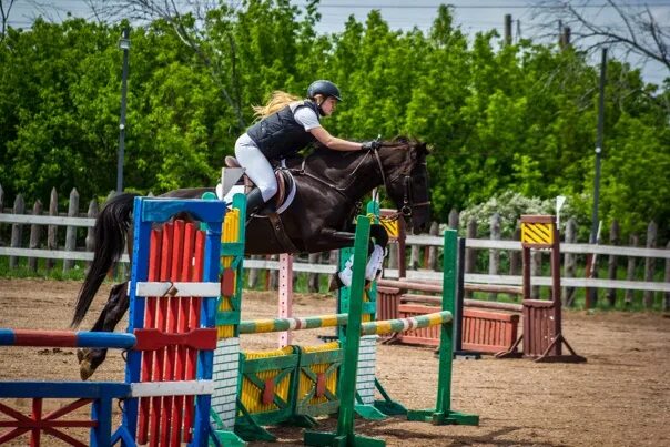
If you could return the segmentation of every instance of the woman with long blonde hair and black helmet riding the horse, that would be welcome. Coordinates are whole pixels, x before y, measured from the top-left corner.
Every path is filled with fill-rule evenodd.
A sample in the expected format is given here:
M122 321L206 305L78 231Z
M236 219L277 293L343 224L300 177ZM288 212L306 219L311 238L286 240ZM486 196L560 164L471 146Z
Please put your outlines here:
M258 211L277 192L271 162L277 162L318 141L335 151L370 150L376 141L357 143L333 136L319 122L342 101L339 89L331 81L314 81L307 99L275 91L267 104L254 106L260 118L235 142L235 156L255 186L246 196L246 217Z

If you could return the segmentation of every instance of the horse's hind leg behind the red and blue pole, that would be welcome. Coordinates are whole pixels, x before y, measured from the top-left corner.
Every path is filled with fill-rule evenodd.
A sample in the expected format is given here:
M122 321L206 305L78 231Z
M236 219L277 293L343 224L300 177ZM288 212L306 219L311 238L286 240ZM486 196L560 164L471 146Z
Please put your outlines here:
M128 296L128 282L116 284L110 292L110 297L100 313L100 317L91 328L92 332L113 332L125 311L128 311L130 298ZM77 349L79 360L79 375L82 380L93 375L95 369L104 362L106 348L80 348Z

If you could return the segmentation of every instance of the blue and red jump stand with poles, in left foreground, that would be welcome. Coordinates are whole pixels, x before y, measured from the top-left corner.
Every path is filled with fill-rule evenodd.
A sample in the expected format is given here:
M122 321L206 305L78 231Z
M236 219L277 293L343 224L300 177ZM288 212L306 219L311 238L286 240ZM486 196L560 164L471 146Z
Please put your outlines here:
M168 222L177 212L200 221L202 230ZM0 329L3 345L130 349L124 383L0 383L0 398L32 399L29 416L0 404L0 414L10 418L0 421L10 428L0 434L0 444L24 434L32 446L47 436L72 446L220 444L210 428L210 396L224 214L222 202L135 200L128 334ZM154 223L164 225L152 230ZM69 403L43 413L51 399ZM122 403L123 421L112 435L115 399ZM90 418L71 415L85 406ZM88 443L70 428L89 429Z

